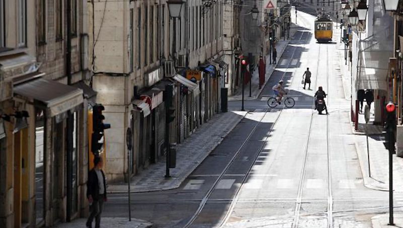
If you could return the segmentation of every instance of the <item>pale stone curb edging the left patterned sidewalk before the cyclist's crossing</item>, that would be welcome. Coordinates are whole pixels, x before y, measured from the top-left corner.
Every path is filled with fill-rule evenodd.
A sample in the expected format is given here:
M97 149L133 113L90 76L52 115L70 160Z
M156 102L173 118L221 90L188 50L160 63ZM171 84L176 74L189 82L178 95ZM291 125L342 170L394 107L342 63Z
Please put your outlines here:
M245 116L247 115L247 111L245 111L244 115L239 118L239 120L230 127L230 129L221 136L221 139L214 145L212 146L208 153L205 153L203 156L201 156L201 158L199 157L199 160L194 161L193 163L195 164L191 169L189 169L185 175L182 175L181 177L177 177L174 181L172 181L172 185L168 186L168 187L162 187L162 188L154 188L154 189L130 189L130 193L141 193L141 192L155 192L155 191L164 191L164 190L171 190L171 189L175 189L178 188L182 182L207 158L207 156L210 155L210 153L216 149L216 147L218 145L221 144L221 142L225 139L225 137L227 137L227 135L239 124L239 122L241 122ZM123 186L126 187L127 189L127 185L115 185L115 186ZM107 190L108 193L127 193L127 190Z

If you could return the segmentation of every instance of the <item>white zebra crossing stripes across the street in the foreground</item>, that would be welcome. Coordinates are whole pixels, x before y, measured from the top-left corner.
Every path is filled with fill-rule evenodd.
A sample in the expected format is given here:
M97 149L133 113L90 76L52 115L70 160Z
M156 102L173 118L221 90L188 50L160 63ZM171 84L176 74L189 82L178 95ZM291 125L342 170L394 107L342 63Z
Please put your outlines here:
M231 176L231 175L229 175ZM277 175L261 175L261 176L277 176ZM245 182L243 188L245 189L261 189L263 187L263 179L252 178ZM276 189L292 189L297 188L298 181L294 179L277 179L273 181L275 185L271 185L271 188ZM197 180L189 180L186 185L183 187L183 190L197 190L200 189L205 184L205 180L197 179ZM234 185L239 185L239 179L235 178L224 178L221 179L215 189L231 189ZM332 186L333 188L339 189L355 189L357 185L362 184L362 181L357 181L356 179L341 179L337 182L336 186ZM326 180L324 179L306 179L304 181L304 188L306 189L325 189Z

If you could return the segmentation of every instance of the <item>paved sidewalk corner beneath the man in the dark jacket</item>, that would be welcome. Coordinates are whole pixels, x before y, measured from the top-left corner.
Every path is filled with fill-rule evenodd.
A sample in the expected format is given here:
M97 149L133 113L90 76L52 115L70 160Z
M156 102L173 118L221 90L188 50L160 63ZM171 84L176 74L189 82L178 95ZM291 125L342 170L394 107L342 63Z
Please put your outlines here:
M56 224L54 227L56 228L81 228L86 227L85 223L87 222L87 218L78 218L74 219L71 222L59 223ZM92 223L95 224L95 221ZM153 224L140 220L131 218L129 221L128 218L111 218L111 217L103 217L101 218L101 227L114 227L114 228L148 228L151 227Z

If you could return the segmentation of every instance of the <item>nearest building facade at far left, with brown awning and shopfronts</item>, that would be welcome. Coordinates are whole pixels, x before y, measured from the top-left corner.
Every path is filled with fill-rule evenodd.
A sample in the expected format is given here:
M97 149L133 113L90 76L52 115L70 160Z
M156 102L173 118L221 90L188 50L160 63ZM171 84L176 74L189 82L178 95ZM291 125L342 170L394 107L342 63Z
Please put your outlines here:
M88 210L87 3L71 1L70 13L67 3L0 1L1 227L47 227Z

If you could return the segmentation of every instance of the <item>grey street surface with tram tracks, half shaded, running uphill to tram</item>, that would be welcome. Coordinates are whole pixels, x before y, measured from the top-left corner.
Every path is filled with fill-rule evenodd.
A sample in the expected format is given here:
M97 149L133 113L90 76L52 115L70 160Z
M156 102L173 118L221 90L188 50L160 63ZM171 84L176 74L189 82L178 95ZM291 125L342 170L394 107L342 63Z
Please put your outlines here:
M260 96L245 101L246 117L178 189L132 194L133 217L157 227L370 227L372 216L387 212L388 193L363 184L339 44L317 44L313 21L299 12L298 32ZM312 90L301 84L307 67ZM267 106L280 79L293 108ZM319 85L328 116L312 109ZM103 216L127 214L126 195L110 195Z

